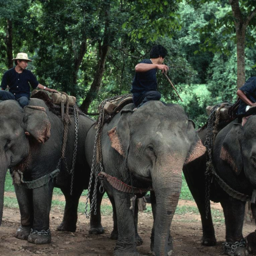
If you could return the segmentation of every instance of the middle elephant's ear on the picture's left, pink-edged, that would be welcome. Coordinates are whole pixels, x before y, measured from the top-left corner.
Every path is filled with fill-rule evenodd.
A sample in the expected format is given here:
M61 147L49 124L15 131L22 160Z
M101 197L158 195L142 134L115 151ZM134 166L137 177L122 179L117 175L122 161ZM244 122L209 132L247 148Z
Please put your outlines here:
M123 157L127 156L130 141L129 116L130 112L121 112L121 117L116 127L108 131L111 146Z

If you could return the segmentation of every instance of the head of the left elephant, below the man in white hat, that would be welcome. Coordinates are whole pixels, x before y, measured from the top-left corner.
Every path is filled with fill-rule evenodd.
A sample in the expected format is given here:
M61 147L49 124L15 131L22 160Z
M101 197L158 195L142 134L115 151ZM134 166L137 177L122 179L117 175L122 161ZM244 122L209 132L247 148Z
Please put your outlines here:
M29 140L34 144L48 140L50 128L43 107L27 106L23 109L13 100L0 102L0 225L7 169L27 159L30 154Z

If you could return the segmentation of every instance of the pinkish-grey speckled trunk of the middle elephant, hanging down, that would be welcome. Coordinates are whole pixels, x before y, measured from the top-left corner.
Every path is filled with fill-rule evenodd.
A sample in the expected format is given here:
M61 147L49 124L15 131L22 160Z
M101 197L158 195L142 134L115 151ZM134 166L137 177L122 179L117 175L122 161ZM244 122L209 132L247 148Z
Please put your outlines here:
M152 177L156 197L154 252L156 256L171 255L168 247L171 221L182 187L183 160L160 166Z

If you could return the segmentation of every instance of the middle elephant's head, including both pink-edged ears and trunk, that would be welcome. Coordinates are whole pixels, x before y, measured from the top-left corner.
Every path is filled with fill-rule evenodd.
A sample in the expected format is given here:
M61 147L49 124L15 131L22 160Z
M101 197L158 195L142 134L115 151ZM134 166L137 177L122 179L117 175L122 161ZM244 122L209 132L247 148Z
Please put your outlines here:
M121 113L108 136L132 174L152 183L157 200L154 251L156 255L167 255L183 165L205 153L194 124L179 105L154 101L133 113Z

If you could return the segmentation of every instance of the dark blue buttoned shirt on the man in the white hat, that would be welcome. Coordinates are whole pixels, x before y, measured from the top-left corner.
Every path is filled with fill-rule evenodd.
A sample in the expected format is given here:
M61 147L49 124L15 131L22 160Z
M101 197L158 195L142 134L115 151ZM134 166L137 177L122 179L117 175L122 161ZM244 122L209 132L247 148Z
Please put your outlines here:
M21 96L30 96L30 85L33 89L37 88L38 81L31 71L24 69L22 73L15 71L15 68L11 68L4 73L2 77L1 87L5 90L7 85L9 91L15 95L15 98Z

